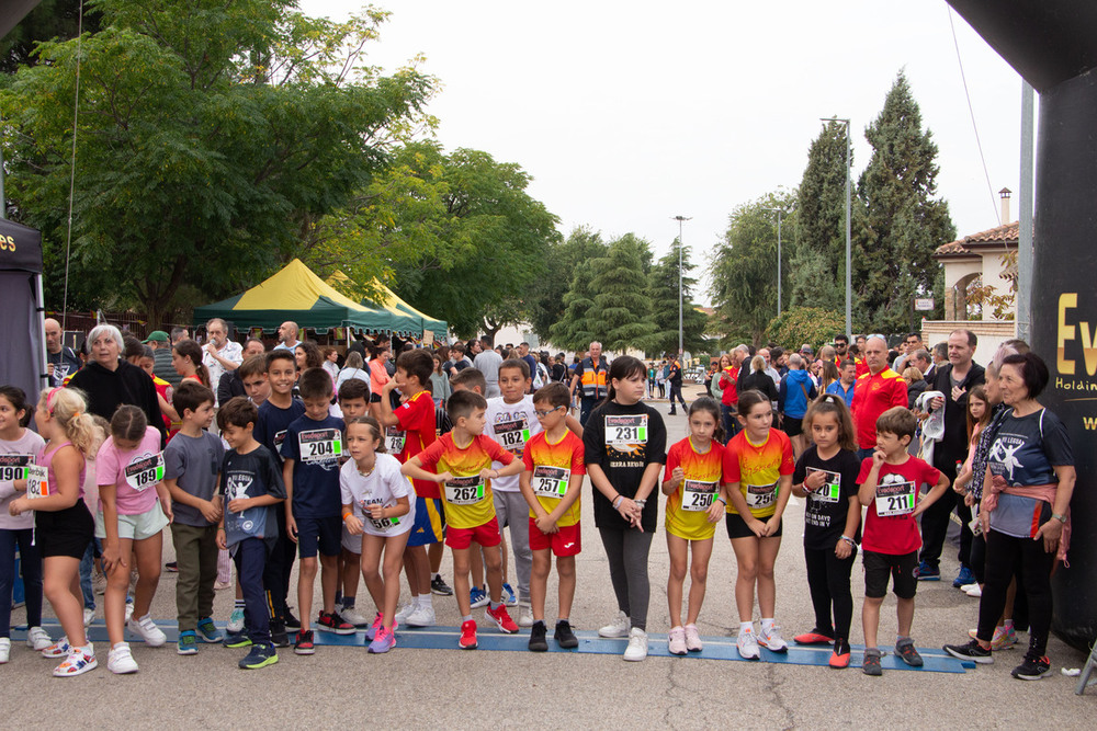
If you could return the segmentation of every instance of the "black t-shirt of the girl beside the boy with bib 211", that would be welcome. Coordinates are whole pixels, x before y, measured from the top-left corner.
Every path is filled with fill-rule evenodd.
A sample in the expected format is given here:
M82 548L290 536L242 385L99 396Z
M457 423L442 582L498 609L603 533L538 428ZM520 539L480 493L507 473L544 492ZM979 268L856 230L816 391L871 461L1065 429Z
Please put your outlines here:
M824 486L818 492L808 492L807 505L804 507L804 548L833 550L846 528L849 499L857 499L857 476L861 470L861 460L848 449L840 449L830 459L819 459L818 449L813 444L800 455L796 469L792 472L792 483L803 483L808 469L830 472L827 477L832 479L836 476L838 491L835 494ZM827 481L830 482L830 479ZM857 525L853 540L861 542L860 524Z

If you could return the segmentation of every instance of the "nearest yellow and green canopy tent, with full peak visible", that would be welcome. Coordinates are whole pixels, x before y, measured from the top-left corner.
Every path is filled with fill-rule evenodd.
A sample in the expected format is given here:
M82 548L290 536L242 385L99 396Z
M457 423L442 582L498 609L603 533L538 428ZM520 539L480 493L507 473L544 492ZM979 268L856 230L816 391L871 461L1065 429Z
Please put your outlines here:
M321 333L330 328L398 335L420 335L423 331L422 320L408 312L370 307L346 297L298 259L244 294L194 308L195 323L215 317L241 330L274 330L292 320Z

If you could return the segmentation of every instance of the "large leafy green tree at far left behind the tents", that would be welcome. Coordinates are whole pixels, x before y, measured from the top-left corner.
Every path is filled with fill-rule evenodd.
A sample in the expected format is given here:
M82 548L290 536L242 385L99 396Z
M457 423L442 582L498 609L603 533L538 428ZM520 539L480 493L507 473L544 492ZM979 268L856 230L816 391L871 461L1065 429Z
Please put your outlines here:
M361 64L386 14L309 19L291 0L98 0L82 39L70 290L144 308L224 296L302 253L422 118L434 81ZM46 43L0 93L20 220L60 304L77 42Z

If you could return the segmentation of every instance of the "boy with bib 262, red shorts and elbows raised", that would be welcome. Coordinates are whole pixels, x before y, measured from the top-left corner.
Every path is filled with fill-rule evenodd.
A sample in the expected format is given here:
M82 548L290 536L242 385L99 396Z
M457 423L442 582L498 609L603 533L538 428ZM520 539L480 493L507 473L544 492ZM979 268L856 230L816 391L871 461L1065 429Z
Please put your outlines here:
M487 618L508 635L518 631L518 625L502 604L502 566L497 548L501 537L495 517L491 480L518 475L522 462L484 435L487 401L483 396L456 391L450 397L448 408L453 430L412 457L402 471L415 480L433 480L444 486L442 500L449 521L445 545L453 553L453 585L462 623L457 644L463 650L475 650L476 621L468 602L468 553L473 542L493 549L484 551L490 592L490 605L485 610ZM493 469L493 461L506 467Z

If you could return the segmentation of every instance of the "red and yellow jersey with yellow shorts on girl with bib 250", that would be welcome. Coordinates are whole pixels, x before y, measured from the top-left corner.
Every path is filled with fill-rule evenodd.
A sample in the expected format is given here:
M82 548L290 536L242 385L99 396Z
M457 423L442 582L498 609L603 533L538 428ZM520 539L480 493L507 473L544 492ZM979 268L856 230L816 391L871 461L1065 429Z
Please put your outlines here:
M720 494L720 482L724 472L724 446L719 442L712 442L708 452L698 452L692 439L687 436L667 450L664 482L674 477L676 467L682 468L686 479L677 490L667 495L667 533L686 540L712 538L716 524L709 523L708 511L712 501Z

